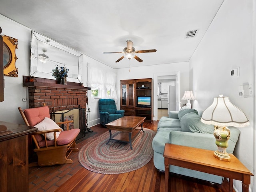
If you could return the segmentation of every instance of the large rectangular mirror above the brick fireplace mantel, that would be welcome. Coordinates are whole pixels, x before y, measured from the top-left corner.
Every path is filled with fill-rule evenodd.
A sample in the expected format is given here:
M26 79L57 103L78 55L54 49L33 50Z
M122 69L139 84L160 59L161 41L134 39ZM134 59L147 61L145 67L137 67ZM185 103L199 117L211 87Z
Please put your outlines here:
M81 83L83 54L35 31L31 33L30 76L55 79L52 70L69 69L67 81Z

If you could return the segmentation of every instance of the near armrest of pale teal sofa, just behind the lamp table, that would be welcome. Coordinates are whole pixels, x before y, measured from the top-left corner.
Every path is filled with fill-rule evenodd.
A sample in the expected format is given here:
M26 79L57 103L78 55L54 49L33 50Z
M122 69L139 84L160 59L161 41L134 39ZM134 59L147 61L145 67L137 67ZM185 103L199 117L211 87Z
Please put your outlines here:
M171 131L168 142L170 144L215 151L217 150L215 141L216 139L213 134Z

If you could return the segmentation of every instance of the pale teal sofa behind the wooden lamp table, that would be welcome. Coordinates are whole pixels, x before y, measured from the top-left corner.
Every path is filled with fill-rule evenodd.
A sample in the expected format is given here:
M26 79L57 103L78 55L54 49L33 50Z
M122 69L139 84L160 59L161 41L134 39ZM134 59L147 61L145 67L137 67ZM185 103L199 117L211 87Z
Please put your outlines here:
M202 114L198 115L198 111L183 107L179 112L169 112L168 117L160 118L156 136L152 141L154 150L154 166L158 170L164 170L164 145L166 143L202 148L215 151L213 125L206 125L200 121ZM228 140L228 153L233 153L238 141L240 130L234 127L230 128L230 139ZM178 166L170 166L170 172L190 176L213 183L222 184L223 177L212 175L196 170L181 168Z

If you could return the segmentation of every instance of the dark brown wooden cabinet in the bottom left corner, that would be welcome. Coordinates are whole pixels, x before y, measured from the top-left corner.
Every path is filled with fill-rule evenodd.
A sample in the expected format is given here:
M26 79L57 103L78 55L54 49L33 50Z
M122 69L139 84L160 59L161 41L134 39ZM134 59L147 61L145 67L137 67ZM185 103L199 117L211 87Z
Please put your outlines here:
M0 121L1 192L28 192L28 134L37 130Z

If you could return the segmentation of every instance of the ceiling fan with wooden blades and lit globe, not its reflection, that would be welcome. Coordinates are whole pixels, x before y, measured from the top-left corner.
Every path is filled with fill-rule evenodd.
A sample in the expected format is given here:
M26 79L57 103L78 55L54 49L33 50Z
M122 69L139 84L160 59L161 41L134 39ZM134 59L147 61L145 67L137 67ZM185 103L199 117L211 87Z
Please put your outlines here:
M136 51L135 48L133 47L133 42L131 40L127 40L127 47L124 48L123 52L103 52L103 54L108 54L108 53L124 53L122 57L120 57L118 60L116 60L116 63L122 60L124 57L128 58L129 60L134 58L138 62L142 62L143 60L139 58L138 56L135 55L135 53L151 53L151 52L156 52L155 49L149 49L149 50L140 50Z

